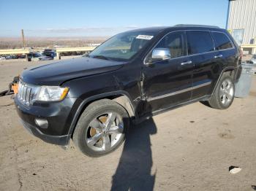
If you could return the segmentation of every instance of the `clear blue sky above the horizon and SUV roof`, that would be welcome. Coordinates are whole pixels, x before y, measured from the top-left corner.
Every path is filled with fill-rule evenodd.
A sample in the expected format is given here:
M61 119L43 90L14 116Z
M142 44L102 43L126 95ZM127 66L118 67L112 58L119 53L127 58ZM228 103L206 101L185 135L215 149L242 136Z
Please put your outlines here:
M0 36L112 36L151 26L225 28L227 0L0 0Z

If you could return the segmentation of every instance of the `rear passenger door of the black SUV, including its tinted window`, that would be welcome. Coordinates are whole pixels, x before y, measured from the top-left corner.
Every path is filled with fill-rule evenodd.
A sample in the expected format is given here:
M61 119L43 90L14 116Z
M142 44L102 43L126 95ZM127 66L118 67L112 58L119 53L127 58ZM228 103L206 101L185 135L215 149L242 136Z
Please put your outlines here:
M214 75L219 72L218 52L209 31L186 31L188 53L194 64L192 99L211 94Z

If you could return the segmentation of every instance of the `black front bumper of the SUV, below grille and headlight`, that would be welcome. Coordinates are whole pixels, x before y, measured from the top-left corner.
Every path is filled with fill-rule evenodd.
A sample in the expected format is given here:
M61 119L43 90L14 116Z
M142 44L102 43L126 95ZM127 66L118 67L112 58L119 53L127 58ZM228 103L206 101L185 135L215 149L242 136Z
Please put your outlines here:
M69 128L72 122L72 106L75 99L65 98L56 103L39 103L32 106L24 106L18 98L14 99L18 116L26 128L34 136L50 144L67 145L71 134ZM48 127L39 126L35 120L48 121Z

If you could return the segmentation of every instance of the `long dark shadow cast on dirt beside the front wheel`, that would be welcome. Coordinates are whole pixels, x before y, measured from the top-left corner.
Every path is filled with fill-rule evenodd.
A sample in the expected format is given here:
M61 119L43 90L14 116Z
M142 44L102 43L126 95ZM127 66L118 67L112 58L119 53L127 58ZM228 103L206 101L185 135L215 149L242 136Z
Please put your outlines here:
M152 118L132 125L121 154L111 190L153 190L157 172L153 165L150 136L157 133Z

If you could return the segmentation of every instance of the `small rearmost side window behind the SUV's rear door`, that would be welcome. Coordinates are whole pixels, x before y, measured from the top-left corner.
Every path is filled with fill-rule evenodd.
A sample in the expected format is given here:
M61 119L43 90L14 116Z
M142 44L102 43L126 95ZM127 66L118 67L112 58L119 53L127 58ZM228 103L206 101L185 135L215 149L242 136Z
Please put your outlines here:
M212 32L212 36L214 38L216 50L224 50L233 47L232 42L230 42L230 39L227 38L227 35L223 33Z

